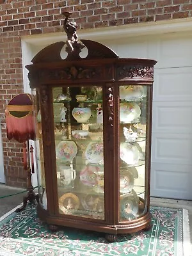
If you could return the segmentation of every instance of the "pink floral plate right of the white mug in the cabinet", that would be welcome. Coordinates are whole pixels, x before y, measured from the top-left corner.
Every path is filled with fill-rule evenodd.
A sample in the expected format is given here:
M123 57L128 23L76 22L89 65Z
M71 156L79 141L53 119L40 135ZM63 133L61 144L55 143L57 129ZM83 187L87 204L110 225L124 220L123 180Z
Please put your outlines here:
M97 166L86 166L80 172L80 180L86 186L95 186L96 184L96 175Z

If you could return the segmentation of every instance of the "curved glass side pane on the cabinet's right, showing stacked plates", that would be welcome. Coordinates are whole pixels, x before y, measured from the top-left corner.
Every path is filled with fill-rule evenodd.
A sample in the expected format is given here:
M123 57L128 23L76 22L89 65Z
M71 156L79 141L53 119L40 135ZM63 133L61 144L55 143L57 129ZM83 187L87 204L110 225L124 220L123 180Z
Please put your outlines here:
M122 85L119 102L120 127L120 221L140 218L147 212L148 127L150 86Z

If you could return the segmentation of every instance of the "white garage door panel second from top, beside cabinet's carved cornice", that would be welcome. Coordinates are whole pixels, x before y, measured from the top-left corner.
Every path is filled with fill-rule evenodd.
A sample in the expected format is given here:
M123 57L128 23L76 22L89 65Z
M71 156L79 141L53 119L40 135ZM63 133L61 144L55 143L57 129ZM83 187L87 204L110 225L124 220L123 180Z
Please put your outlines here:
M192 99L192 67L159 68L154 74L154 101Z

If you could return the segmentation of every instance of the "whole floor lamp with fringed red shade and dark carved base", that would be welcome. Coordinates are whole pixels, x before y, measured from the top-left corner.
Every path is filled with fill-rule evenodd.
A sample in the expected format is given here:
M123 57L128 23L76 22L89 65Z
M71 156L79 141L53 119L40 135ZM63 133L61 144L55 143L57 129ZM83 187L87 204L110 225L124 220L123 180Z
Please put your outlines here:
M27 173L28 194L24 196L23 205L16 209L20 212L26 208L29 202L39 202L38 195L34 193L31 182L31 173L34 173L33 146L29 148L29 140L35 140L35 124L33 116L33 103L29 93L20 93L13 97L5 109L6 134L8 140L16 140L23 143L24 170ZM31 154L31 166L30 166ZM31 172L32 171L32 172Z

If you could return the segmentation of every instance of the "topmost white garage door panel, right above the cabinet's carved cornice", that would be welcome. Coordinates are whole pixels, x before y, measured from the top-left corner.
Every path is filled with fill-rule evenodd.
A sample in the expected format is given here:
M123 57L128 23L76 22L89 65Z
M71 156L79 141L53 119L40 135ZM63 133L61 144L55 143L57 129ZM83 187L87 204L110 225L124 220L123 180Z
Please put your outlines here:
M157 60L156 68L191 67L192 36L186 33L178 35L162 35L156 43L151 42L150 58Z

